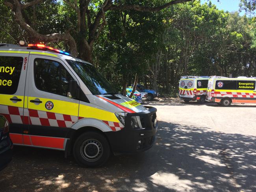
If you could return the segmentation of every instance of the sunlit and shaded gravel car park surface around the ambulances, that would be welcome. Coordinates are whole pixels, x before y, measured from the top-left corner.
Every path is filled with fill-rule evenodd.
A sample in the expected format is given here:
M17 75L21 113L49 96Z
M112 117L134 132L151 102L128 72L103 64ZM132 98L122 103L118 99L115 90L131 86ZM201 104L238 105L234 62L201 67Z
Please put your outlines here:
M0 191L256 191L256 105L147 103L158 109L156 144L79 167L61 151L15 146Z

